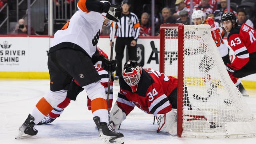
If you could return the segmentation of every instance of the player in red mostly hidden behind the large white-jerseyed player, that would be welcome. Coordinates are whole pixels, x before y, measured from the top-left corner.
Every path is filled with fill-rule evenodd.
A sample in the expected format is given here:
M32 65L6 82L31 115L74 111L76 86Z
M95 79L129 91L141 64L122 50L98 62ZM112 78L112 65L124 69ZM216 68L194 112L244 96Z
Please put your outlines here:
M105 52L103 52L100 48L97 47L97 50L98 50L100 55L102 54L103 56L108 58L107 54ZM101 62L100 61L96 62L95 68L96 68L96 71L98 72L98 74L100 75L100 78L101 78L100 79L100 84L102 84L102 86L104 86L104 88L105 88L106 99L107 99L107 93L108 93L108 72L101 67ZM111 79L111 82L110 82L110 93L109 93L108 111L111 110L112 102L113 102L113 81L112 81L112 79ZM58 106L56 106L37 125L49 124L49 123L53 122L57 117L60 116L60 114L62 114L62 112L64 111L64 108L66 108L70 104L71 100L76 100L76 96L80 92L82 92L82 90L84 90L84 88L80 87L80 84L76 80L73 79L72 80L72 84L70 85L70 87L68 89L67 97L65 98L65 100L63 102L61 102L60 104L58 104ZM92 110L91 109L91 99L88 96L87 96L87 107L88 107L88 110Z

